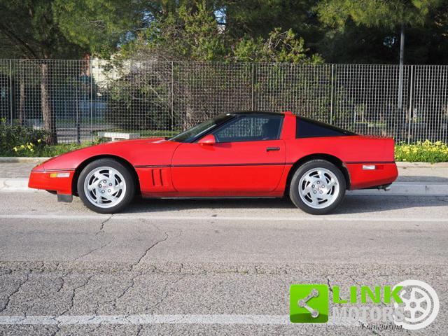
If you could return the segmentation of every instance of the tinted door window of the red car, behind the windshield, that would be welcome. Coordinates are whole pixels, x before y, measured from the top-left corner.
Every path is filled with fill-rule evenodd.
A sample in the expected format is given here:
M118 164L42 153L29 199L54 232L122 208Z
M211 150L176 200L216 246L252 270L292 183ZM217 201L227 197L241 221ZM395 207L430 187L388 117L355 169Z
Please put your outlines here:
M214 132L216 142L276 140L282 116L241 116Z

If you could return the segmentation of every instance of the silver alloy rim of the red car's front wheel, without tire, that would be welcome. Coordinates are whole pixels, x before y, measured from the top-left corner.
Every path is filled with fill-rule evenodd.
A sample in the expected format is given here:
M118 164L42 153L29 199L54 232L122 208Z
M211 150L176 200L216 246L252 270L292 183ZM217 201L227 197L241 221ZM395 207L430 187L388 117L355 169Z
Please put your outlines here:
M97 167L87 174L84 193L87 200L97 207L114 207L125 197L125 178L117 169Z

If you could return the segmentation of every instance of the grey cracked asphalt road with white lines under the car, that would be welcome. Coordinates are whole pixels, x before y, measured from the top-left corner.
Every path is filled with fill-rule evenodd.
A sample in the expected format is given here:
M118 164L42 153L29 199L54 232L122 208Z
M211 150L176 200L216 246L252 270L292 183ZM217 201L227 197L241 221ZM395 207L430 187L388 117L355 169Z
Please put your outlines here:
M2 192L0 335L442 335L447 215L448 197L349 196L330 216L288 200L140 200L106 216ZM405 279L440 298L423 330L288 323L290 284Z

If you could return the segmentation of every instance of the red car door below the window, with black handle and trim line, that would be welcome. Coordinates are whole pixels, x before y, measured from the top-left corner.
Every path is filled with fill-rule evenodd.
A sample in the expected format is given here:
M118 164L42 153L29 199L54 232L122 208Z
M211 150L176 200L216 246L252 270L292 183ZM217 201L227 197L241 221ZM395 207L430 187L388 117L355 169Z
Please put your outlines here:
M285 158L283 140L181 144L173 155L172 181L179 193L269 193L279 184Z

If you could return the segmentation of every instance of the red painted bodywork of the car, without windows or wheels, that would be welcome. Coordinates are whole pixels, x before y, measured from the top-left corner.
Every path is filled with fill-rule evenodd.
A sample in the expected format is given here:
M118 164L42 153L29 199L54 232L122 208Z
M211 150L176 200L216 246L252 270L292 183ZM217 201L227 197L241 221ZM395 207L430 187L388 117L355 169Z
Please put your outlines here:
M144 197L281 197L296 162L315 155L342 162L350 189L386 185L398 176L393 139L358 135L296 139L295 132L296 118L287 112L279 140L200 144L156 138L99 144L38 165L31 171L29 187L72 194L79 170L102 157L132 165ZM365 165L375 169L365 170ZM55 173L69 174L51 177Z

